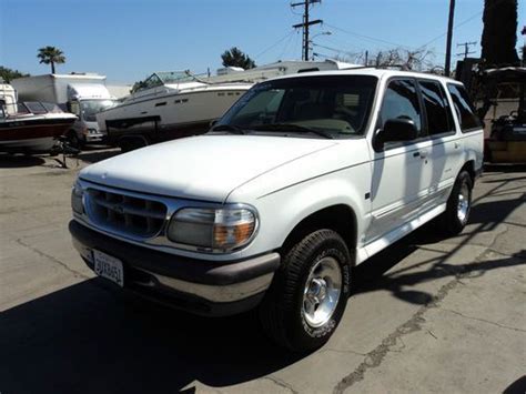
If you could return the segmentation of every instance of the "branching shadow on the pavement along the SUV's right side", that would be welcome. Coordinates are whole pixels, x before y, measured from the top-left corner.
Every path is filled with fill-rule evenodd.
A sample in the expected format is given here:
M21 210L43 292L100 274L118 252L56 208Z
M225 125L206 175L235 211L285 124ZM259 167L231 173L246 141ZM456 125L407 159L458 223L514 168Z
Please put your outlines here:
M475 200L469 215L469 226L458 236L456 245L448 252L435 252L439 255L427 261L419 261L405 269L393 270L395 265L418 249L418 245L434 244L447 239L438 220L432 221L394 245L374 255L355 270L355 280L358 285L355 293L365 293L381 289L388 290L393 296L408 303L425 305L433 301L433 295L411 290L418 283L436 279L468 274L471 277L479 276L488 271L526 264L526 250L517 250L512 256L492 261L469 261L466 264L449 264L447 262L454 253L464 245L469 245L473 239L482 232L490 232L498 224L506 224L507 218L520 206L526 206L526 185L506 189L514 181L506 179L489 190L486 194ZM493 180L481 180L493 183ZM492 196L502 196L504 193L512 198L507 200L493 200ZM485 201L481 201L486 199ZM525 228L526 224L512 223L514 226ZM469 230L467 230L469 229ZM475 257L475 256L474 256ZM424 267L425 271L419 271Z

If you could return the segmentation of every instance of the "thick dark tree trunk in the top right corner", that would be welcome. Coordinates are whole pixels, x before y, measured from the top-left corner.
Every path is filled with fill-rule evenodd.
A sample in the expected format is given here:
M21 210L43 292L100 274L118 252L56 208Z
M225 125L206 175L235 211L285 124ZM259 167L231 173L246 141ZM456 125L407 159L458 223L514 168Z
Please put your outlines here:
M485 0L482 57L487 64L518 63L517 0Z

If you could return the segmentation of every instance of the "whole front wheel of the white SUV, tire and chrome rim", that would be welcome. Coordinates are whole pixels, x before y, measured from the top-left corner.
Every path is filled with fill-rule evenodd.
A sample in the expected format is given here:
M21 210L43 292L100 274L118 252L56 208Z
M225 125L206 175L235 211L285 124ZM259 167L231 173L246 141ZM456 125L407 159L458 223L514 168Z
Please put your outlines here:
M345 242L332 230L315 231L292 246L259 307L265 333L295 352L325 344L351 294L352 261Z

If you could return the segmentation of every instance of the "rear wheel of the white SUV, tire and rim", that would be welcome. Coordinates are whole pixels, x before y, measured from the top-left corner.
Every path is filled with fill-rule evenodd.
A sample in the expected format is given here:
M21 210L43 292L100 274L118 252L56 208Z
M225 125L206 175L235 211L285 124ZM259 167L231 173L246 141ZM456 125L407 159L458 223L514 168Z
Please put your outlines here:
M446 234L457 235L466 226L472 210L472 176L467 171L461 171L447 200L446 212L442 218Z

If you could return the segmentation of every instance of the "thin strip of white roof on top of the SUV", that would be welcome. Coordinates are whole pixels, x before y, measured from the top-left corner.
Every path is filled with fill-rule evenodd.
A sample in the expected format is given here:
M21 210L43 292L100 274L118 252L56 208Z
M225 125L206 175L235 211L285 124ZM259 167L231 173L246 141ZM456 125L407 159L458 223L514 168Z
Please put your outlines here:
M408 78L421 78L421 79L432 79L443 82L454 82L461 84L459 81L454 80L448 77L425 73L425 72L415 72L415 71L401 71L392 69L377 69L374 67L356 67L345 70L331 70L331 71L312 71L312 72L301 72L296 74L283 75L274 78L274 80L290 79L290 78L308 78L308 77L331 77L331 75L371 75L377 77L378 79L392 78L392 77L408 77Z

